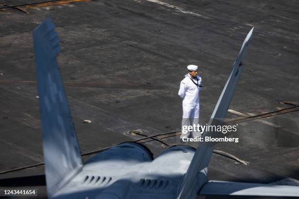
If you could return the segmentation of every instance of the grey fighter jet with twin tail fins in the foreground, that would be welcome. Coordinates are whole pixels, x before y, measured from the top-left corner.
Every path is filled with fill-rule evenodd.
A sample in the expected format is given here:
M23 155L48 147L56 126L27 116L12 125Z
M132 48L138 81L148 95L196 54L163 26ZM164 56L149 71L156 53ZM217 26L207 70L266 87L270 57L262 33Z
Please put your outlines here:
M209 181L208 166L215 144L199 144L194 150L175 145L153 159L150 151L134 142L121 143L85 164L57 56L60 44L51 19L33 32L46 188L51 199L195 199L199 195L299 196L297 186ZM243 42L232 72L208 125L222 124L240 78L242 59L253 28ZM203 137L215 137L204 132Z

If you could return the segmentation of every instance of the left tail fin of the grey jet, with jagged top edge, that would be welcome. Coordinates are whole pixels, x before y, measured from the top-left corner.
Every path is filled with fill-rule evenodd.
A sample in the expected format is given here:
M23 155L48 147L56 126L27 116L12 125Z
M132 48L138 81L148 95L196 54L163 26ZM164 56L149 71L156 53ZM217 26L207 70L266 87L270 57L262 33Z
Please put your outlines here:
M82 169L81 153L60 76L60 45L51 19L33 31L47 194L51 198Z

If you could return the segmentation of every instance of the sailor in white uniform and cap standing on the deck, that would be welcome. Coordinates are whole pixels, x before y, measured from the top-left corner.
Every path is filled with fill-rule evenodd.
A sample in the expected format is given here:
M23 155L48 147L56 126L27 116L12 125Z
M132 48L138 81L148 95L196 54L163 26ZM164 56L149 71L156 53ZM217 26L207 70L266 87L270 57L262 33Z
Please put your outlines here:
M188 65L188 74L181 81L178 95L183 99L183 119L182 133L180 136L181 142L185 143L187 138L200 137L200 132L196 129L191 129L186 126L197 126L199 122L199 92L201 90L201 77L197 75L198 66ZM185 137L185 138L183 138Z

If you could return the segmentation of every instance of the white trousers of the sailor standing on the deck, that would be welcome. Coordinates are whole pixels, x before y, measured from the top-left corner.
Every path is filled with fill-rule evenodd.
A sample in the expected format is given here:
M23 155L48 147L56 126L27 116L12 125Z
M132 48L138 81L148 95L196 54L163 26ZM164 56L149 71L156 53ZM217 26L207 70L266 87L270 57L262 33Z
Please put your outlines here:
M183 119L182 119L182 133L180 138L183 137L200 137L201 134L198 131L189 131L186 126L193 126L199 124L199 103L187 104L183 103ZM197 127L196 127L197 128Z

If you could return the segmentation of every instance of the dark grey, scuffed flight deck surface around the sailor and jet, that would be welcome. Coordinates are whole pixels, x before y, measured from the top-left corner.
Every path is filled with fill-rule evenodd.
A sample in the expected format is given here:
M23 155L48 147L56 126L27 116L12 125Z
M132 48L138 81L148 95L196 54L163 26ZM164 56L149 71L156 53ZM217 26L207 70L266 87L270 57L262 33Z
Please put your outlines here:
M278 101L299 103L297 0L93 0L24 9L29 14L0 10L0 172L43 162L32 31L48 17L61 39L58 62L82 153L142 138L131 130L179 131L177 92L189 64L200 65L200 123L207 123L252 26L230 109L260 114L291 107ZM214 154L210 179L299 182L299 112L262 120L240 123L239 143L216 146L250 166ZM157 141L145 145L154 156L165 150ZM37 187L45 198L43 166L0 175L5 186Z

